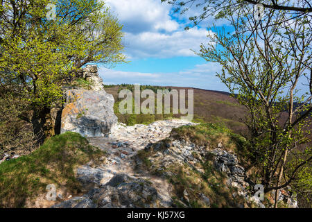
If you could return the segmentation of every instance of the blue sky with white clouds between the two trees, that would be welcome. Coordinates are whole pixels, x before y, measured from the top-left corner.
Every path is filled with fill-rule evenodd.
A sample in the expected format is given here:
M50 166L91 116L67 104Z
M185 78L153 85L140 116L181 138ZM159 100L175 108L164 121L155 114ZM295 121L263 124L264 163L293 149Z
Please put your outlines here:
M220 66L206 62L191 49L199 51L207 43L207 26L184 31L190 15L172 13L172 8L160 0L106 0L114 15L123 24L125 55L130 62L112 69L100 67L105 84L139 83L141 85L198 87L227 91L216 78ZM222 21L220 22L222 24Z

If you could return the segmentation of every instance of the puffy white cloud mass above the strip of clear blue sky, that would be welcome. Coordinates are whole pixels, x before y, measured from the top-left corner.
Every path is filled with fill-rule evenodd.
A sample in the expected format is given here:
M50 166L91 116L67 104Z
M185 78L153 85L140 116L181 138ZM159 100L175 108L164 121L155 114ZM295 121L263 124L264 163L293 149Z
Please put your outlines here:
M184 31L170 16L171 6L160 0L106 0L123 24L125 54L128 58L171 58L196 56L201 43L207 43L206 28Z

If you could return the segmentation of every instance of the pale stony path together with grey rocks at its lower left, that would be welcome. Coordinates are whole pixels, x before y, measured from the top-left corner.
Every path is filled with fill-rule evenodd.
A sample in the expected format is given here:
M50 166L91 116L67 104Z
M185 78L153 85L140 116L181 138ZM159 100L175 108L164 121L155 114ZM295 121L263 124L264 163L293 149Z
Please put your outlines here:
M152 142L165 139L173 128L195 124L180 119L156 121L148 126L142 124L125 126L123 123L117 123L105 137L89 137L91 145L97 146L107 153L107 162L96 168L88 165L78 167L76 177L83 187L89 189L89 193L82 197L71 198L54 207L173 207L171 185L164 178L156 178L135 171L137 151L144 149ZM116 177L119 178L120 175L126 175L133 181L123 186L123 189L119 189L121 187L118 186L112 188L110 186L112 181ZM147 180L152 185L148 183L148 185L138 187L137 182L144 183ZM147 193L132 194L139 189L146 190ZM129 194L125 195L126 192ZM92 202L94 196L103 198L101 204L96 205ZM121 197L123 198L121 202L110 203L108 201L110 198L120 200ZM135 200L137 199L143 202L136 205ZM148 202L150 199L153 201Z

